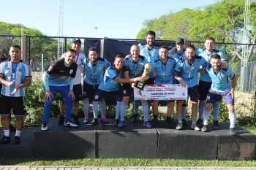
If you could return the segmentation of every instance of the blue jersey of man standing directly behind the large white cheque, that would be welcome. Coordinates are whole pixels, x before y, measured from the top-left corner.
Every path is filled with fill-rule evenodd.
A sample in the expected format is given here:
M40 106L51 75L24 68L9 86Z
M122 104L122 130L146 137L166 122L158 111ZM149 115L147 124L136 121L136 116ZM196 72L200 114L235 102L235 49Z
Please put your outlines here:
M162 63L158 58L152 64L152 71L157 72L155 84L173 84L173 72L176 67L176 60L174 58L168 58L166 63Z

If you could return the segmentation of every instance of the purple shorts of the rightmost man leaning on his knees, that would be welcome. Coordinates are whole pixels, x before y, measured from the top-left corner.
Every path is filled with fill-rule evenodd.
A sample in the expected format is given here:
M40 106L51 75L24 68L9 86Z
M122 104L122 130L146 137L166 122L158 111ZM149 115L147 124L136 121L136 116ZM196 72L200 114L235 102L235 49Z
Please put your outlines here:
M215 102L220 101L223 97L226 104L234 105L235 102L234 99L232 99L232 95L227 95L227 93L229 93L229 91L219 92L209 90L206 103L214 104Z

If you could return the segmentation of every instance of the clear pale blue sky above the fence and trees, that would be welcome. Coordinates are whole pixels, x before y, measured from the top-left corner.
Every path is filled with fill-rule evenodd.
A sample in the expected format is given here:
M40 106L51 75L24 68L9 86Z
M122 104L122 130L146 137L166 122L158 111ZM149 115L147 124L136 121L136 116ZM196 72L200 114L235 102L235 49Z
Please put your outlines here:
M135 39L143 21L217 0L64 0L63 36ZM58 36L59 0L0 0L0 21ZM97 31L94 27L97 27Z

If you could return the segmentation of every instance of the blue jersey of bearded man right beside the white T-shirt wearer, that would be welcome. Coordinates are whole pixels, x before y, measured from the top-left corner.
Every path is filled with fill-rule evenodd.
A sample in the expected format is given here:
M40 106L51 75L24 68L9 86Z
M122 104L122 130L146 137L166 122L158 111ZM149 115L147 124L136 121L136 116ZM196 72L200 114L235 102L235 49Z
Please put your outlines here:
M89 58L84 58L82 63L85 66L83 80L89 85L99 85L102 79L102 71L110 66L110 62L105 58L98 58L96 64L91 64Z

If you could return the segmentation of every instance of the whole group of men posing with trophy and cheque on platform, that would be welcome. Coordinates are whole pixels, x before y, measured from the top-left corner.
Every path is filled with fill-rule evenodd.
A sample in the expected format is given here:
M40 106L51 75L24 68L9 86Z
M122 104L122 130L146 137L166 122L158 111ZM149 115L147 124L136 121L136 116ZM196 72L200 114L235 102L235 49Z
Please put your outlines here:
M135 96L135 89L143 90L147 85L179 85L187 90L191 101L192 124L195 131L208 131L211 109L214 113L214 128L219 128L219 101L224 98L230 119L230 135L236 135L236 112L234 109L234 90L237 77L230 69L219 50L214 49L215 39L208 37L203 49L193 45L185 46L184 39L176 39L176 46L169 50L166 46L157 47L154 31L146 34L146 44L132 45L127 55L116 55L113 63L100 58L96 47L88 54L80 52L80 39L72 39L72 45L66 53L50 63L42 74L45 93L45 105L42 116L42 131L48 131L50 109L56 93L61 94L61 116L59 125L77 128L79 101L83 101L83 123L97 125L100 121L109 123L106 117L106 103L116 101L115 125L125 125L125 113L129 99ZM11 142L10 114L16 118L15 137L12 144L20 143L23 117L25 115L25 88L31 84L31 66L21 59L20 46L10 47L10 59L0 64L0 115L4 136L0 144ZM82 71L83 70L83 71ZM82 73L83 72L83 73ZM104 73L104 74L102 74ZM81 79L83 75L83 79ZM38 80L39 81L39 80ZM89 121L90 101L94 117ZM159 100L134 100L132 122L138 121L139 106L143 111L143 126L152 128L157 125ZM187 100L173 98L167 100L165 124L173 124L173 110L177 109L176 129L187 125L185 120ZM153 120L148 120L152 107ZM72 116L72 112L74 115ZM197 116L198 112L198 116ZM91 117L90 117L91 118Z

